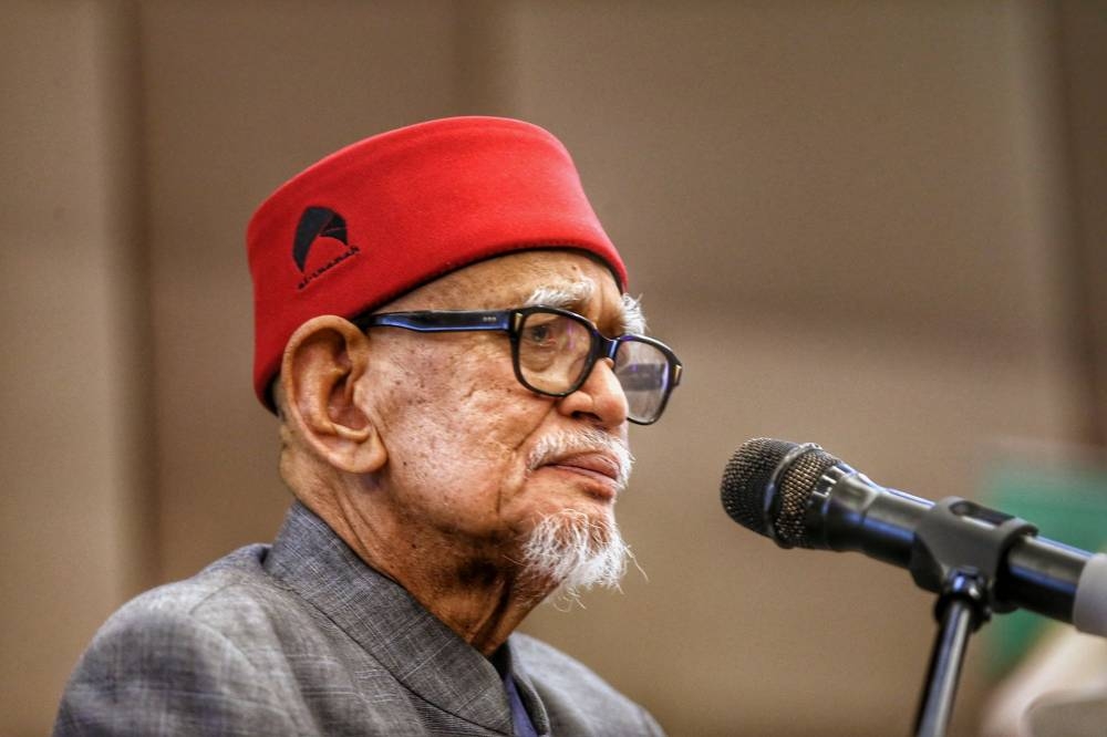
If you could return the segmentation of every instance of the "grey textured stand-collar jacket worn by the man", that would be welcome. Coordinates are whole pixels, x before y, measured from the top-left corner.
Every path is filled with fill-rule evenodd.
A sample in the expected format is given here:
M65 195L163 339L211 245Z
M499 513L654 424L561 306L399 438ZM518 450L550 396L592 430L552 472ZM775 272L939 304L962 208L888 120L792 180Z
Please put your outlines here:
M514 634L510 673L546 735L661 735L568 655ZM293 505L277 540L116 612L54 735L510 735L493 664Z

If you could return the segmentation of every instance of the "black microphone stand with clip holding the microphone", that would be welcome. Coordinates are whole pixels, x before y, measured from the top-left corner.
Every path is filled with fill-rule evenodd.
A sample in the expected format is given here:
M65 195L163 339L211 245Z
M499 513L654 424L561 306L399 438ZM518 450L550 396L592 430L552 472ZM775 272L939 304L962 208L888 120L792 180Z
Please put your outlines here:
M915 528L908 568L915 583L939 594L938 635L914 722L918 737L945 735L969 636L993 612L1014 609L996 600L1000 567L1017 539L1035 533L1025 520L958 497L937 502Z

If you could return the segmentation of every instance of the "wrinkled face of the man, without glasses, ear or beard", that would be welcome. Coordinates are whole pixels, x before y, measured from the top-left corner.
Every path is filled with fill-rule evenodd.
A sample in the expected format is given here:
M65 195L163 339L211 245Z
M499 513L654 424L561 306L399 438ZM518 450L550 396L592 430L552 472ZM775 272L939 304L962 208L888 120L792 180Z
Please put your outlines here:
M485 261L382 311L506 309L559 297L572 301L557 307L584 315L604 334L624 332L611 273L570 251ZM608 362L598 362L579 391L556 398L518 382L506 333L377 328L370 331L369 371L358 391L389 454L366 491L386 496L413 543L495 553L563 510L613 526L621 464L612 446L625 447L627 401ZM544 460L531 468L536 458Z

